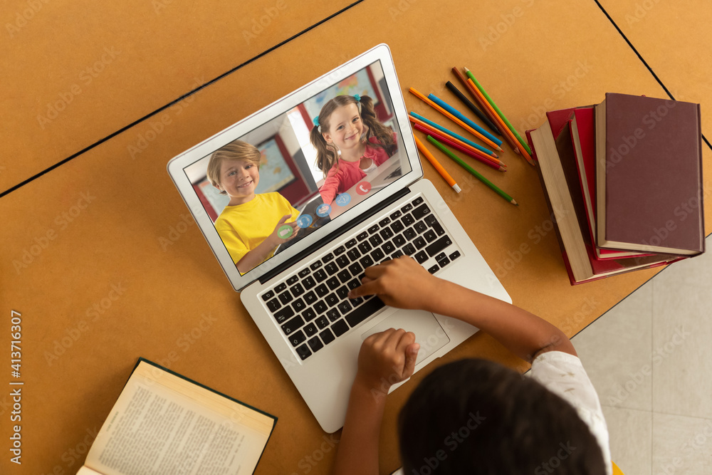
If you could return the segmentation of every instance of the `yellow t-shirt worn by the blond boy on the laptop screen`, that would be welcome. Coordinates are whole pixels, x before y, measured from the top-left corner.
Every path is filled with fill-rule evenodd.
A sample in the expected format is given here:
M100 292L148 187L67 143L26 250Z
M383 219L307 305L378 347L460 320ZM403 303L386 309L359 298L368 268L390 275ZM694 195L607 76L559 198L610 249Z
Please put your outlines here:
M248 251L255 249L272 234L285 214L292 215L285 221L290 223L297 219L299 212L281 194L256 194L249 202L226 206L215 220L215 229L233 262L238 263ZM266 259L269 259L273 252L274 249Z

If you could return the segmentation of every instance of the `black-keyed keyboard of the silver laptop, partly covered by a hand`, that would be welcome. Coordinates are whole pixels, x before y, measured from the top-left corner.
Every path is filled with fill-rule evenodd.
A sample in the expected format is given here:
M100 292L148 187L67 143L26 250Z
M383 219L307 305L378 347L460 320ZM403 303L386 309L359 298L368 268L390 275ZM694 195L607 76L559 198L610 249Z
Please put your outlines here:
M436 273L461 253L422 197L398 205L357 229L335 249L262 294L301 360L384 307L375 296L347 298L364 269L402 255Z

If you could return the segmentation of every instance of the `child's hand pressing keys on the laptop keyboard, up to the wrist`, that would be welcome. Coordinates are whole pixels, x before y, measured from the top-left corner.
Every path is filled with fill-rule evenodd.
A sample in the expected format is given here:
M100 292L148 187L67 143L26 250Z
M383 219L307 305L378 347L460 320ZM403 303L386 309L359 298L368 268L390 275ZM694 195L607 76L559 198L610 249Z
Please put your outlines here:
M408 256L384 261L365 270L362 285L349 298L377 295L388 306L432 311L440 279Z

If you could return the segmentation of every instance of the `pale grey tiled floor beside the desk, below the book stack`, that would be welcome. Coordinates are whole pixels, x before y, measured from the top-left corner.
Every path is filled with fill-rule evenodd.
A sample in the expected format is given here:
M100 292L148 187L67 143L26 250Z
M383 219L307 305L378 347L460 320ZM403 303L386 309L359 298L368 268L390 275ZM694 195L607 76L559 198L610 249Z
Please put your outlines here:
M711 308L708 251L664 269L572 338L624 474L712 474Z

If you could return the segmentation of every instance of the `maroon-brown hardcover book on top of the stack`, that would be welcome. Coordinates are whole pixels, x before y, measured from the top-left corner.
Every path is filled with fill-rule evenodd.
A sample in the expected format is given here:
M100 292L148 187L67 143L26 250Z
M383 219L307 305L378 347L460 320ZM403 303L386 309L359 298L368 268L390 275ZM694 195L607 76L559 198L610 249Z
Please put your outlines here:
M704 252L699 104L607 93L595 120L598 246Z

